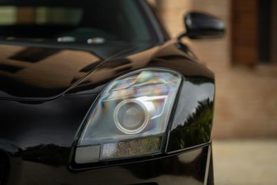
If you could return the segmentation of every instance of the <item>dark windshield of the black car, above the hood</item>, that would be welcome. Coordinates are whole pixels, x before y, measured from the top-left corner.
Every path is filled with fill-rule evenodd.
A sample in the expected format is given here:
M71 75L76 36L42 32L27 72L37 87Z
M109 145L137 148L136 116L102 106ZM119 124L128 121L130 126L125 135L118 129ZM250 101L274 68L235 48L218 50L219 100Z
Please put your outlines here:
M0 37L36 42L155 41L140 0L0 0Z

